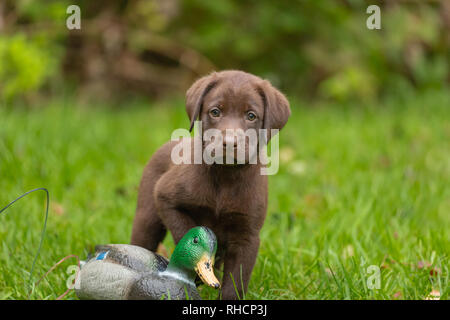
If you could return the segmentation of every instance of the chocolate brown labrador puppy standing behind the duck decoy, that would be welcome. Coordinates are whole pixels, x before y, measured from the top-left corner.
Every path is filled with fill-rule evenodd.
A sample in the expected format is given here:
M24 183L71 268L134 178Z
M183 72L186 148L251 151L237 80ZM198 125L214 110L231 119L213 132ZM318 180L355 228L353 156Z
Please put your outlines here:
M227 129L279 130L290 116L289 102L281 92L242 71L214 72L197 80L187 91L186 110L191 130L199 118L203 130L214 128L223 134L227 155L225 142L232 144L232 151L237 147L236 136L230 138ZM206 143L202 136L199 139L204 149ZM162 146L144 169L131 243L155 251L166 230L178 243L190 228L207 226L218 240L216 267L224 265L222 298L236 299L236 290L242 297L266 216L267 176L260 170L264 165L259 158L250 163L248 154L240 164L175 164L172 151L177 143ZM247 140L245 144L248 151Z

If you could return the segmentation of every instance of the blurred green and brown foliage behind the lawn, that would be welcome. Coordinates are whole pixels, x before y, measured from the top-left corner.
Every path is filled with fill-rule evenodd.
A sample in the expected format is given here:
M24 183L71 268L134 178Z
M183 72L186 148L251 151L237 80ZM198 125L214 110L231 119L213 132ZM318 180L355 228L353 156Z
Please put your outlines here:
M369 4L381 30L366 28ZM449 1L2 0L0 97L161 98L230 68L310 100L448 90L449 28Z

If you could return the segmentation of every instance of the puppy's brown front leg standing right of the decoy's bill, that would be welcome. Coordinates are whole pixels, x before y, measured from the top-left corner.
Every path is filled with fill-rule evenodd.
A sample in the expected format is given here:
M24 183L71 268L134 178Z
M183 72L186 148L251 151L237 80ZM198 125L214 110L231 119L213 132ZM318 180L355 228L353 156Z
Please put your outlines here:
M236 291L239 294L239 298L243 298L244 292L247 292L258 249L259 236L252 236L239 242L233 242L228 246L223 270L222 299L237 299Z

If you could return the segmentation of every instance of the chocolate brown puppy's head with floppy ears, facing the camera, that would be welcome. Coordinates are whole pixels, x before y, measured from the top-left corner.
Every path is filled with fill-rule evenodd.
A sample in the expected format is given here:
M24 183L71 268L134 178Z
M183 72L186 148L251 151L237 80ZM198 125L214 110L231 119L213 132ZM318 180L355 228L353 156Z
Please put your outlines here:
M259 129L267 129L270 139L270 129L283 128L291 113L285 96L268 81L234 70L214 72L197 80L186 93L186 111L190 130L196 120L202 122L203 132L216 129L222 134L224 150L230 144L237 148L238 136L243 132L254 130L259 138ZM247 136L246 161L250 157L249 141Z

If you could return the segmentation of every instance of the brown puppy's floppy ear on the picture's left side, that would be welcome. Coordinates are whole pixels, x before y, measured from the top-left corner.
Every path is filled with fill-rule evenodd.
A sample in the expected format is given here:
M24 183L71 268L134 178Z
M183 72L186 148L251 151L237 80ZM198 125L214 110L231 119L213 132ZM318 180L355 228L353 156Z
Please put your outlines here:
M189 120L191 121L189 131L192 131L194 122L197 120L202 111L203 99L208 92L214 88L217 82L217 75L213 72L210 75L204 76L195 81L186 92L186 112L189 116Z

